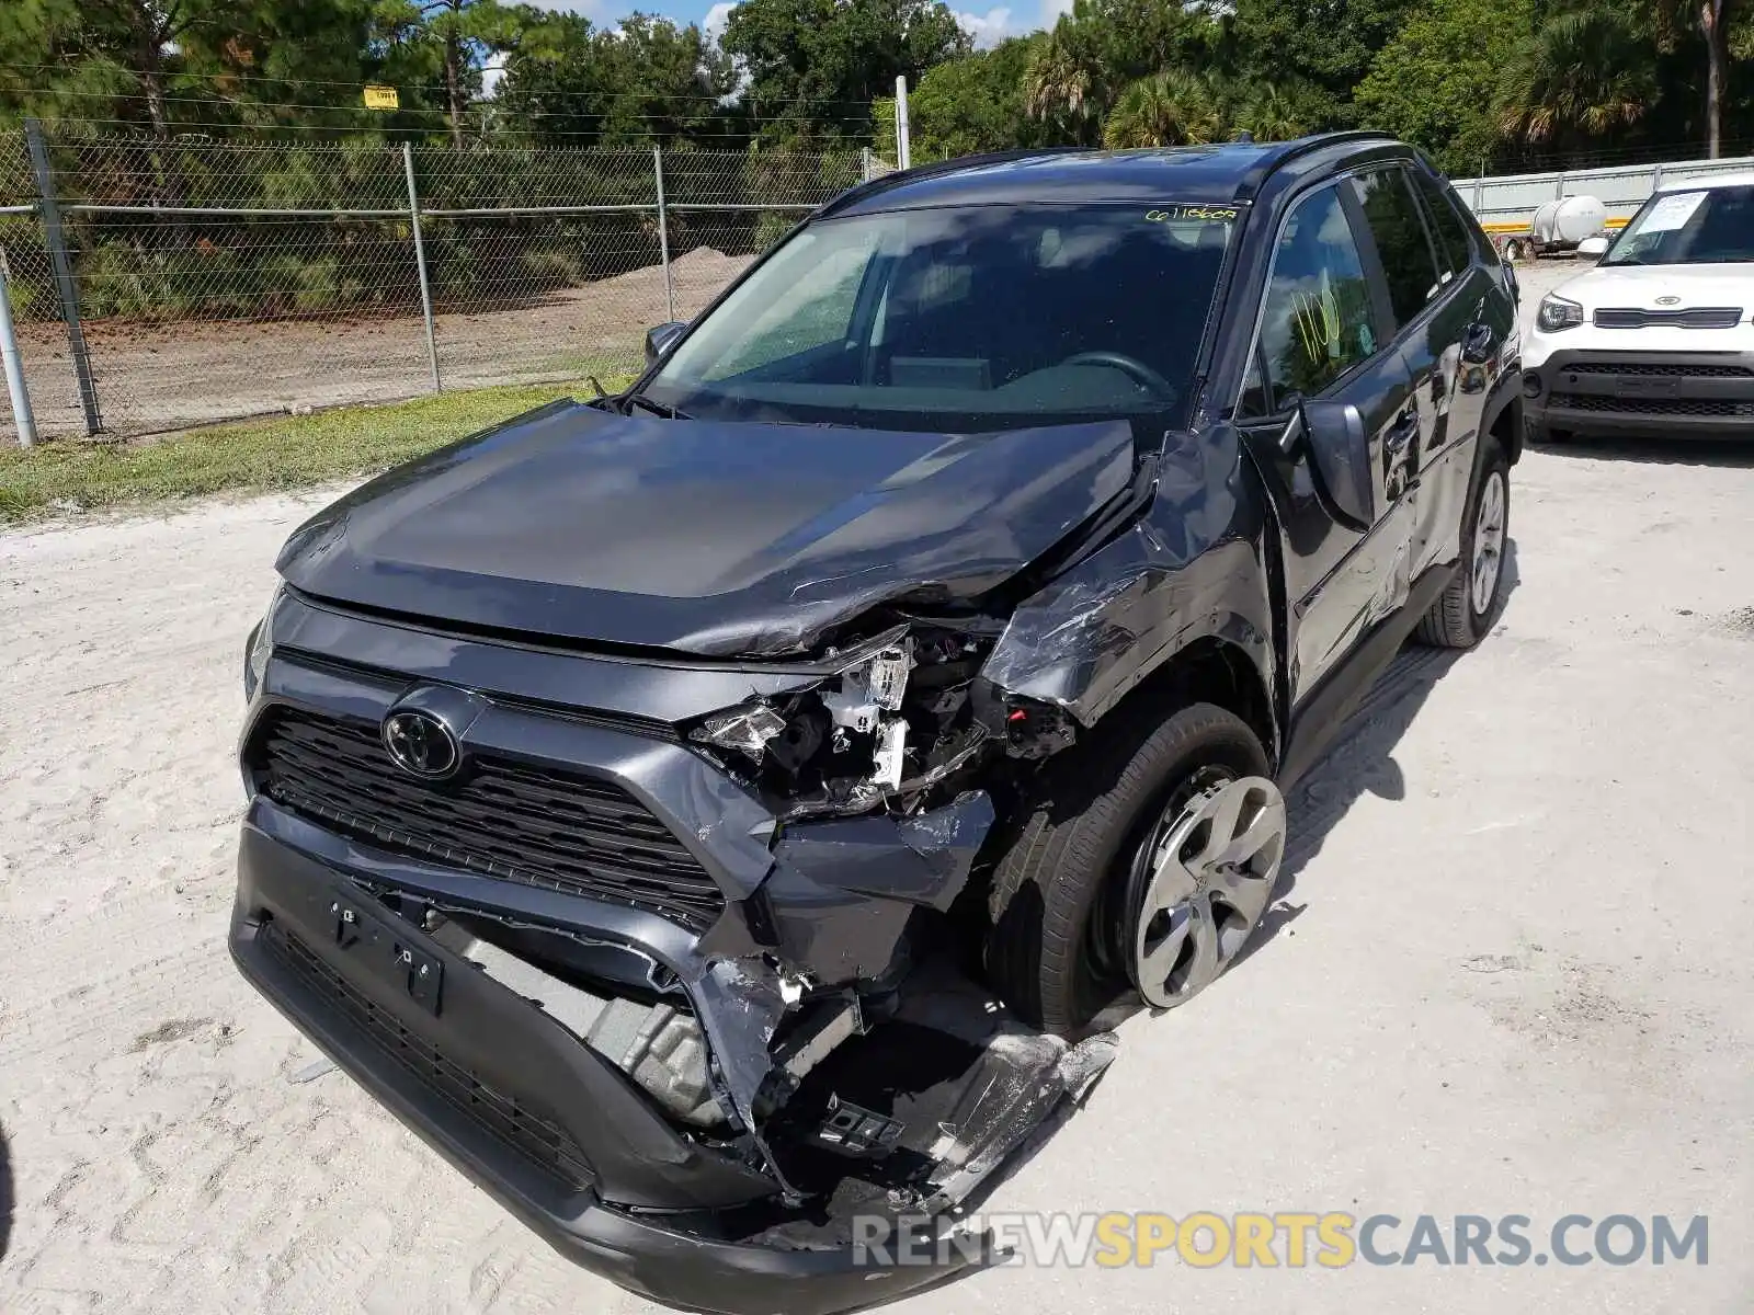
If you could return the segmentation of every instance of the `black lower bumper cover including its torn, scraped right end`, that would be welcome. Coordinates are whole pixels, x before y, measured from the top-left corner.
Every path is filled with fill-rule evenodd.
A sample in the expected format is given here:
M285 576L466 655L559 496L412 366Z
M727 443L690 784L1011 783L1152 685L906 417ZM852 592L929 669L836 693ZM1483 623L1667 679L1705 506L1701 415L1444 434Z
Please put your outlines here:
M677 1133L530 1001L254 824L230 943L249 982L446 1159L563 1255L654 1301L835 1315L1003 1259L977 1236L896 1266L854 1245L849 1220L779 1205L770 1176ZM919 1005L952 1034L979 1013L954 989ZM928 1129L935 1191L898 1215L966 1199L1112 1054L1112 1038L1068 1050L980 1026L980 1071L949 1127Z

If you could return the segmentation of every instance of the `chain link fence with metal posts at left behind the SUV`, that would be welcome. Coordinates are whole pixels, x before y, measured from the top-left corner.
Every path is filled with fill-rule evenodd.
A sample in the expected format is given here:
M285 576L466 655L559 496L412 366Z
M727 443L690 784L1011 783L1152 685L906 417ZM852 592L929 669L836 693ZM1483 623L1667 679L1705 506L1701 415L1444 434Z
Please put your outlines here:
M37 435L624 379L870 153L0 133ZM0 405L0 442L18 428Z

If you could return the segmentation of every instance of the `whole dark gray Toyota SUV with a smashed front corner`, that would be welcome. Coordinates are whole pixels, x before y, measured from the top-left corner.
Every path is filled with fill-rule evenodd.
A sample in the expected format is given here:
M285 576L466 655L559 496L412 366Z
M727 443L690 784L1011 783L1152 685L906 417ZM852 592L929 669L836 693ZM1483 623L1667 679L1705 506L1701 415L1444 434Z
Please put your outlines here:
M1489 628L1515 284L1382 137L1033 153L647 354L288 540L232 952L581 1264L863 1308L991 1259L865 1243L1219 978L1282 793Z

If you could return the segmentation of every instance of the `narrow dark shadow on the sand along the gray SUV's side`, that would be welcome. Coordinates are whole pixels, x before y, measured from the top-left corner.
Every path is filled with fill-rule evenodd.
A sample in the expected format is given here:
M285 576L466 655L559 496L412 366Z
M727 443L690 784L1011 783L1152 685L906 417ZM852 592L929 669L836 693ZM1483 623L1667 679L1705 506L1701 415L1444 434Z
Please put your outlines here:
M1521 582L1517 542L1510 538L1505 544L1505 593L1493 626L1503 617ZM1328 752L1286 796L1286 856L1279 864L1273 901L1228 971L1237 971L1303 915L1308 901L1293 899L1298 878L1310 859L1321 854L1328 835L1354 803L1366 794L1391 801L1407 798L1407 778L1394 761L1394 745L1414 724L1437 682L1466 656L1463 650L1428 649L1408 640L1377 677L1377 684L1365 694Z

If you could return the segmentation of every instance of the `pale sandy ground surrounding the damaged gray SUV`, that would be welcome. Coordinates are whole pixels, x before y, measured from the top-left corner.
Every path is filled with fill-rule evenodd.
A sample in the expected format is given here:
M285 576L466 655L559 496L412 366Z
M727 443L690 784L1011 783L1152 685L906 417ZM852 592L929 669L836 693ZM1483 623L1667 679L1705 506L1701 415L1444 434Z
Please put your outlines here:
M317 501L0 537L0 1310L645 1310L226 959L242 640ZM1749 1310L1754 452L1531 452L1512 508L1501 624L1403 654L1254 952L1126 1024L989 1206L1703 1213L1710 1264L998 1269L898 1310Z

